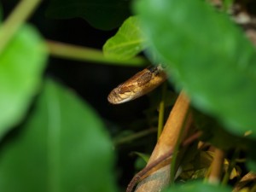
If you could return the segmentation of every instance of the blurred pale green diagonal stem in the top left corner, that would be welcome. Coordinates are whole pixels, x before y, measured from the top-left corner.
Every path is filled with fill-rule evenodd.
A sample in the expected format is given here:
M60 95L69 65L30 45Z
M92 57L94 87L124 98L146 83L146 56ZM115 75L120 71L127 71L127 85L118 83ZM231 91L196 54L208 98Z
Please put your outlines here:
M32 14L37 8L41 0L22 0L11 15L3 22L0 28L0 53L5 46L9 43L9 40L15 35L24 21Z

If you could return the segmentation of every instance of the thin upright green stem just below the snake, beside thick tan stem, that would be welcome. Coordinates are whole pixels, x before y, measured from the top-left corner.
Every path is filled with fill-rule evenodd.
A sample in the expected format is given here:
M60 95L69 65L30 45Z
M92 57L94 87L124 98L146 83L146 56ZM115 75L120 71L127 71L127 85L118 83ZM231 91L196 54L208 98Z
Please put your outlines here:
M162 98L161 98L160 105L159 105L157 138L160 137L160 135L163 131L163 127L164 127L166 90L167 90L167 83L165 82L162 85Z

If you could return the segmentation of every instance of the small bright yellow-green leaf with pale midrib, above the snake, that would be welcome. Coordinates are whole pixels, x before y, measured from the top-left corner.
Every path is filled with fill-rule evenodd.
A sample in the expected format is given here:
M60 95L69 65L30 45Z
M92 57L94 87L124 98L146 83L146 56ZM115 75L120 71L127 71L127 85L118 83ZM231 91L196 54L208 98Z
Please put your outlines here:
M145 39L136 16L129 17L103 46L103 53L119 60L131 59L145 49Z

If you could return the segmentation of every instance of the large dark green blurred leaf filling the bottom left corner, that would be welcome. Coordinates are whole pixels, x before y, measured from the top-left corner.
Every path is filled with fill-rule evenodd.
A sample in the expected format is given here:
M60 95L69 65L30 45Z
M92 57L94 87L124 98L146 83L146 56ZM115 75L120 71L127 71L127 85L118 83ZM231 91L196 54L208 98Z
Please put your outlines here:
M1 148L1 190L116 191L108 134L96 113L70 90L48 80L18 131Z

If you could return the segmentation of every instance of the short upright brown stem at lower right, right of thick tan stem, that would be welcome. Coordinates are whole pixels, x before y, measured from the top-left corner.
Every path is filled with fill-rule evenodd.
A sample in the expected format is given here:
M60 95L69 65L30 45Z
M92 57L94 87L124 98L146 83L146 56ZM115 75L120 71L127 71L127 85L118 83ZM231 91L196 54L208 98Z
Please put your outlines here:
M211 165L211 173L208 178L209 183L213 183L213 184L219 183L220 177L223 172L224 156L225 154L223 150L219 148L215 148L215 155Z

